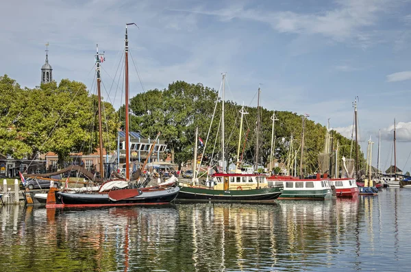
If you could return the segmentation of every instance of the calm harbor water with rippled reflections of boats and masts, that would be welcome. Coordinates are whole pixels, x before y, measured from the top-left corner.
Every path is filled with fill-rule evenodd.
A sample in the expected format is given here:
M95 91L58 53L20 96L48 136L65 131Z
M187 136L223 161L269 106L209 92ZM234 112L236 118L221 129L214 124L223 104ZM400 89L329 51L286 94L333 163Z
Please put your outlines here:
M411 271L410 203L0 207L0 271Z

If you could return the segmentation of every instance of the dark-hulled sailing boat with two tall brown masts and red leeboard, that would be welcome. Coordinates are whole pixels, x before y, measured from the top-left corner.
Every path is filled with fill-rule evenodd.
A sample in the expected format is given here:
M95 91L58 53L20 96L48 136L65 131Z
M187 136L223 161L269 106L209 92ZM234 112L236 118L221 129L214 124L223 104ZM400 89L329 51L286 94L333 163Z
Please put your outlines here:
M135 25L134 23L127 25ZM138 188L136 184L129 183L129 144L128 144L128 38L127 25L125 27L125 132L126 132L126 178L109 180L101 184L96 193L65 192L58 188L50 188L47 194L47 208L64 207L93 207L93 206L129 206L142 204L164 204L170 203L179 193L176 186L177 180L171 180L166 184L155 187ZM100 63L103 54L99 54L97 45L97 92L99 98L99 149L100 149L100 173L103 178L103 138L101 125L101 92L100 92Z

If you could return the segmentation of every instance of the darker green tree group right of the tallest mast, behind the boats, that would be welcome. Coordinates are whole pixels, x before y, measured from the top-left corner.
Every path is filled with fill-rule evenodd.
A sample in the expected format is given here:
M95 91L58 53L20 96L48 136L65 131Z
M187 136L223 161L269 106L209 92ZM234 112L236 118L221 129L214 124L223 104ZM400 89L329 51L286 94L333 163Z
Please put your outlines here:
M221 131L221 100L218 92L202 84L188 84L173 82L164 90L149 90L140 93L130 100L130 129L139 131L146 137L153 138L158 132L166 141L173 161L182 164L192 159L195 146L195 128L199 127L199 136L206 140L214 107L216 114L211 125L210 136L206 150L199 148L206 159L214 156L221 159L220 142ZM215 103L218 103L215 106ZM236 162L238 136L240 134L240 108L233 101L225 101L225 156L228 162ZM121 108L123 110L123 107ZM240 156L245 164L253 164L256 160L256 120L257 107L245 107L248 114L245 116L242 129L242 143ZM272 110L261 109L260 158L259 164L269 162L271 150ZM275 154L280 162L288 159L290 140L293 138L294 149L301 145L302 117L292 112L276 112L278 121L275 123ZM314 121L306 120L305 148L303 167L306 173L318 171L318 155L324 149L326 128ZM333 132L334 147L339 141L339 157L349 157L351 140ZM216 145L214 145L216 143ZM214 149L215 148L215 149ZM212 153L214 150L214 154ZM297 154L299 160L300 153Z

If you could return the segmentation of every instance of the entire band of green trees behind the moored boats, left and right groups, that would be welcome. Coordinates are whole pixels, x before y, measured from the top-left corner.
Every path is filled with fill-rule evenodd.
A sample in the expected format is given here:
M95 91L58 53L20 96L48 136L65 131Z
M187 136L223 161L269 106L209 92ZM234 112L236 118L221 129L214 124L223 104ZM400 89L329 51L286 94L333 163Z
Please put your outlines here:
M97 97L90 95L84 84L63 79L60 84L51 82L29 89L21 88L4 75L0 77L0 95L0 153L22 158L36 151L54 151L61 161L72 151L91 153L97 148ZM179 165L192 159L196 127L205 142L210 129L206 149L199 147L199 153L203 153L206 162L215 164L216 160L221 160L221 103L219 93L212 88L173 82L164 90L148 90L130 99L130 129L149 138L161 132L173 162ZM256 129L257 107L245 107L248 114L240 132L240 108L233 101L225 101L225 159L227 162L238 160L241 133L240 158L244 164L253 164L257 159L256 133L259 132L258 163L266 165L271 153L273 111L260 109L261 129ZM301 145L303 116L286 111L275 114L278 120L275 122L274 158L288 162L291 143L292 153ZM110 103L102 103L103 140L109 151L116 149L118 116L123 115L124 106L116 112ZM323 125L306 120L303 160L306 173L319 169L318 156L324 149L325 133ZM333 135L334 148L337 140L339 142L339 157L349 158L351 140L337 132ZM299 157L297 152L297 160Z

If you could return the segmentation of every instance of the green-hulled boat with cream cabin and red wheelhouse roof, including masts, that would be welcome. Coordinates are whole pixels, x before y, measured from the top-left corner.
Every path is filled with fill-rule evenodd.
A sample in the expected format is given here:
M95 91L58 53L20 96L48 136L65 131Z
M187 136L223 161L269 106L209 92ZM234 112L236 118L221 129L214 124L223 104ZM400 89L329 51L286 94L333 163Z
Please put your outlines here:
M177 195L179 201L216 201L216 202L242 202L242 203L274 203L282 194L282 186L268 187L266 175L258 173L225 173L225 149L224 149L224 91L225 74L223 73L223 95L221 112L221 145L223 158L223 172L214 173L210 186L195 186L180 183L180 191ZM258 90L260 92L260 88ZM245 114L244 107L240 111L241 123ZM240 135L241 135L240 129ZM197 138L196 138L197 142ZM206 142L207 143L207 142ZM238 155L240 141L238 145ZM239 158L239 156L237 156ZM237 163L237 165L239 162Z

